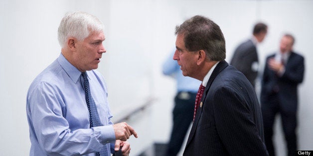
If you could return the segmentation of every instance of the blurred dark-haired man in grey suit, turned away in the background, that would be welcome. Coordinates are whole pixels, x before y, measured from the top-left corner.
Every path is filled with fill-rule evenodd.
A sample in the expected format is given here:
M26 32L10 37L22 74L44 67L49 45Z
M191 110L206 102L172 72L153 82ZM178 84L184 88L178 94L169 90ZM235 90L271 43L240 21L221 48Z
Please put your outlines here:
M258 76L259 59L257 44L261 43L267 33L267 25L257 23L253 28L251 39L241 43L235 50L230 65L243 73L255 87L255 80Z

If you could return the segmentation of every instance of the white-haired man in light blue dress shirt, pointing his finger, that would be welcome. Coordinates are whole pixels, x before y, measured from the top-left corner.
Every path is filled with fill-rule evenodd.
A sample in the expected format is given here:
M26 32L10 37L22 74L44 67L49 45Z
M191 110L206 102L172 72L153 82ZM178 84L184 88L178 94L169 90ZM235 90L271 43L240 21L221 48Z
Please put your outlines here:
M106 82L95 71L106 52L102 44L103 24L86 12L68 13L60 23L58 39L60 56L33 80L27 93L29 155L96 156L106 146L108 154L121 148L123 155L128 156L127 139L131 135L137 138L137 133L127 123L110 121ZM90 128L82 72L87 73L104 126Z

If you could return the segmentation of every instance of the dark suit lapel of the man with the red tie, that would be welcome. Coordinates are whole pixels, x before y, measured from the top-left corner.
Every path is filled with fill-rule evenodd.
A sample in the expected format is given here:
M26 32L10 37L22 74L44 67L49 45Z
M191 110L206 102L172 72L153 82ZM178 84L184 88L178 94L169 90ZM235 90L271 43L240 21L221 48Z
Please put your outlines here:
M223 71L227 66L228 66L228 63L227 63L225 60L223 60L223 61L219 62L219 63L217 64L217 66L215 67L214 71L212 72L212 75L210 76L208 82L206 83L206 87L205 87L205 89L204 89L204 93L203 93L203 96L202 96L202 98L201 98L201 101L202 101L203 105L204 105L204 100L205 100L205 98L206 98L207 92L208 92L208 90L209 90L209 88L210 88L210 86L211 86L213 80L214 80L214 79L216 78L216 76L217 76L221 71ZM188 140L187 140L187 143L186 143L186 148L187 148L188 144L190 143L191 139L193 138L193 135L194 135L194 133L195 133L195 131L196 131L196 127L197 127L198 122L199 122L199 119L200 119L200 117L201 117L202 109L203 109L203 107L204 107L203 105L202 105L201 108L198 107L198 109L197 109L197 113L196 113L196 116L195 116L195 118L194 118L194 121L193 121L191 130L190 130L190 133L189 133L189 137L188 137Z

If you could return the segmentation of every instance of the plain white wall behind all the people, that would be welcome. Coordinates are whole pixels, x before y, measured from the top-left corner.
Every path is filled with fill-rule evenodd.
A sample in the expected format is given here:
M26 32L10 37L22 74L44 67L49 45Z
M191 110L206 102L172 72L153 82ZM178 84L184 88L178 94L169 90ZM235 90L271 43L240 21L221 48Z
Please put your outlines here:
M160 68L174 48L175 25L196 14L220 25L227 61L237 44L250 36L253 24L266 22L268 36L259 46L262 69L265 57L278 49L282 34L295 35L294 48L306 58L305 81L299 88L299 150L312 150L312 0L1 0L0 156L29 155L26 92L60 54L57 27L65 12L76 10L95 14L105 24L107 53L98 70L107 80L113 114L119 116L151 95L157 98L149 109L128 120L140 137L129 140L133 155L153 142L167 142L175 84L162 76ZM279 156L284 156L279 124L276 130Z

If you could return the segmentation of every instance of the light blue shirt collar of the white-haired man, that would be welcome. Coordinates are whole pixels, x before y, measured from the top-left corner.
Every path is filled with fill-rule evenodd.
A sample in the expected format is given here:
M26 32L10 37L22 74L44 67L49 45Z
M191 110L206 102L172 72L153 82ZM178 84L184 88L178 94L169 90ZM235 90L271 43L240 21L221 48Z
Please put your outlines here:
M68 62L62 53L60 54L57 60L61 67L66 72L66 74L73 80L74 83L76 83L81 75L81 72L76 67L74 67L70 62Z

